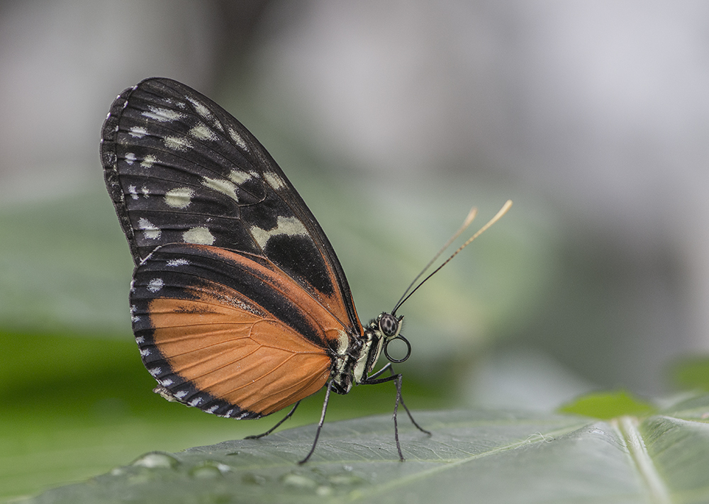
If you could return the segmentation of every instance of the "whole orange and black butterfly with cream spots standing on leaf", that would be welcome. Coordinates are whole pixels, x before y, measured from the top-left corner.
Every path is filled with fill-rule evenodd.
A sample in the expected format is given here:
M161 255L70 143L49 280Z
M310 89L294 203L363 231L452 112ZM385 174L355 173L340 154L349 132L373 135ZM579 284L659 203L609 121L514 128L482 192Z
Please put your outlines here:
M318 221L233 116L189 86L145 79L113 101L101 162L135 262L133 332L155 392L239 420L294 405L274 430L326 387L301 463L330 391L357 383L396 383L399 459L399 403L430 434L391 370L411 354L403 317L395 308L362 325ZM393 340L406 343L403 359L386 352ZM382 351L391 362L372 373Z

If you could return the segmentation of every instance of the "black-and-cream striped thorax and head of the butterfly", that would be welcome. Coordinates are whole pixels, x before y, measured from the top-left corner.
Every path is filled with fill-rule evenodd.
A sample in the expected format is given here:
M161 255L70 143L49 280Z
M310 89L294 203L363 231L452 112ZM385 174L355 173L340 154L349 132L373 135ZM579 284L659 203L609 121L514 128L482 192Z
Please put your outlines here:
M337 364L333 366L333 391L346 394L352 385L367 379L384 346L398 337L402 318L381 313L364 327L361 337L350 340L346 354L337 359Z

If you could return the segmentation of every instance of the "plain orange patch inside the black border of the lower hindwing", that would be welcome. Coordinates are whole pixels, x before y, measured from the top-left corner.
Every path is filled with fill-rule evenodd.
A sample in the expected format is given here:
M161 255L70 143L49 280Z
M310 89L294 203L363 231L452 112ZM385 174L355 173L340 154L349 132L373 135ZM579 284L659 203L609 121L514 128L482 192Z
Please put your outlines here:
M157 298L150 302L157 349L197 388L268 415L316 393L330 357L276 320L220 303Z

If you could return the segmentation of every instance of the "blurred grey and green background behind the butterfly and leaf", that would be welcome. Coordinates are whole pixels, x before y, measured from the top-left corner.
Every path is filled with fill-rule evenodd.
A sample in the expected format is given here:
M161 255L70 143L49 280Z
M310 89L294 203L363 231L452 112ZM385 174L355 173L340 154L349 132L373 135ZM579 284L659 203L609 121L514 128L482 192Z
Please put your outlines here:
M482 225L513 199L399 312L412 409L673 391L667 366L709 346L705 11L0 4L0 498L280 418L167 403L140 363L98 146L113 98L150 76L196 87L255 133L328 233L365 320L391 310L471 206ZM393 386L359 387L328 420L393 399ZM315 421L321 401L289 425Z

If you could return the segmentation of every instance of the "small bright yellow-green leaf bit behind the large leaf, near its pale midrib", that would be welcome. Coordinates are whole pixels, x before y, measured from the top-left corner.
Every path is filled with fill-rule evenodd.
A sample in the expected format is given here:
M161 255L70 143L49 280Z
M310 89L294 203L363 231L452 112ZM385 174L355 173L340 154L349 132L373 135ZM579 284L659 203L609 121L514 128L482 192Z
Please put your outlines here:
M562 413L576 413L603 420L622 415L647 416L654 410L653 405L633 397L627 391L593 392L559 408Z

